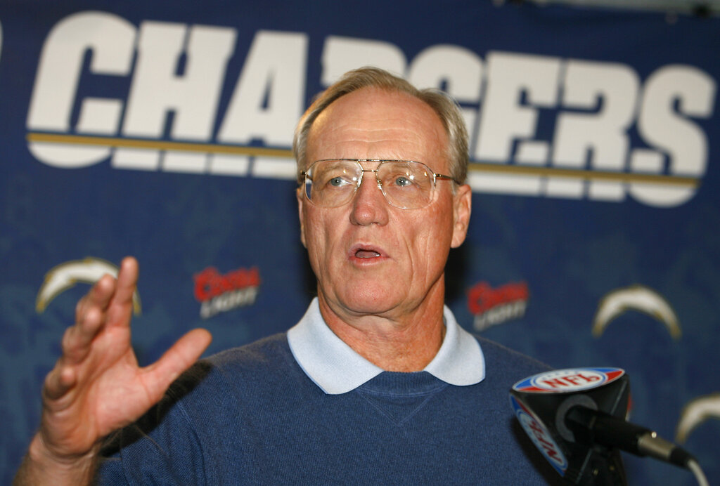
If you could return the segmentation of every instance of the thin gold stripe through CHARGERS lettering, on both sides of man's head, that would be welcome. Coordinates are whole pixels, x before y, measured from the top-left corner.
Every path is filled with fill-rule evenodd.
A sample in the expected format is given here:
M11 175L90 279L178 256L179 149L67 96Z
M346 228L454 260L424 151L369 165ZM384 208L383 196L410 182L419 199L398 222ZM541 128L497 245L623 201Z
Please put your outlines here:
M292 150L287 149L170 142L167 140L129 139L118 137L81 137L66 134L29 133L27 134L27 141L73 145L102 145L104 147L127 147L148 150L176 150L179 152L207 152L228 155L292 158ZM603 180L619 183L680 185L690 188L696 188L699 184L699 180L697 178L681 177L678 175L618 173L605 172L602 170L532 167L528 165L489 164L482 162L471 162L469 170L472 172L500 173L503 175L525 177L559 177L582 180Z

